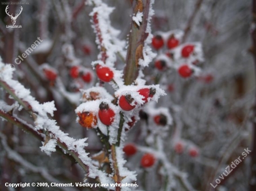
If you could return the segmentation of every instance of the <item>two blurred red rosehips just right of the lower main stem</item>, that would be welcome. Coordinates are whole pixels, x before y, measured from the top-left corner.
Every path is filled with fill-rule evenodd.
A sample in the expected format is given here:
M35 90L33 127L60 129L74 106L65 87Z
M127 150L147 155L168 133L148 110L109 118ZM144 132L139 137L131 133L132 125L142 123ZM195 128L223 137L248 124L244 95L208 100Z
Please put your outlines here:
M127 156L132 156L135 153L137 153L137 147L132 144L129 143L127 145L125 145L123 147L123 152L127 155ZM144 168L147 167L151 167L155 164L155 157L153 154L151 153L145 153L142 157L141 157L141 166Z

